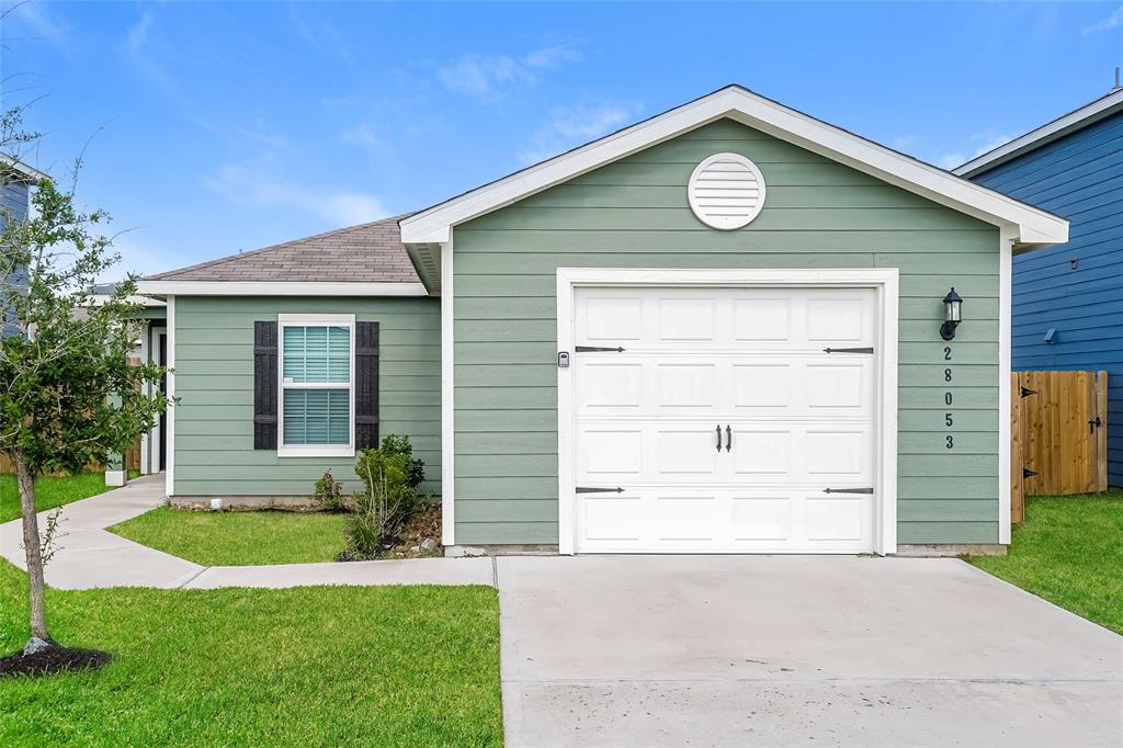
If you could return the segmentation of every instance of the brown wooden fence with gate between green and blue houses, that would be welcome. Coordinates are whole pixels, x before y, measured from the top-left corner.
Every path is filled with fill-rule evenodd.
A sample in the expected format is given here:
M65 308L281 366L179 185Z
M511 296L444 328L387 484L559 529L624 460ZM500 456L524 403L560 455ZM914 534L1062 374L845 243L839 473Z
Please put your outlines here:
M1107 372L1011 375L1011 520L1025 496L1107 490Z

